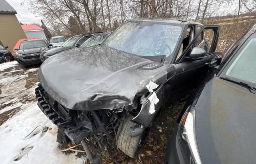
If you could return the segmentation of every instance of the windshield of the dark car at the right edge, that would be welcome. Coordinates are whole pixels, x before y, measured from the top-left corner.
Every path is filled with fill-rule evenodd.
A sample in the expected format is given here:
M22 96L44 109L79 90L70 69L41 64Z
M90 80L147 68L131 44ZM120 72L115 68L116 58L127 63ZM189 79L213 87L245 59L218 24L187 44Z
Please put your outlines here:
M236 81L250 83L256 87L256 34L239 49L230 63L224 69L225 76Z

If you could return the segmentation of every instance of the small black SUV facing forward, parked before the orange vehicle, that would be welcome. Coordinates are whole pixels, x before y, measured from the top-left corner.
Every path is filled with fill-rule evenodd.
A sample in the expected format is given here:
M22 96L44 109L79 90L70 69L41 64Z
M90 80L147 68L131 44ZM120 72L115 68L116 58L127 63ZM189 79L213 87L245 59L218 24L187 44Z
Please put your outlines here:
M24 40L17 48L16 60L22 66L42 63L40 54L50 47L51 44L45 39Z

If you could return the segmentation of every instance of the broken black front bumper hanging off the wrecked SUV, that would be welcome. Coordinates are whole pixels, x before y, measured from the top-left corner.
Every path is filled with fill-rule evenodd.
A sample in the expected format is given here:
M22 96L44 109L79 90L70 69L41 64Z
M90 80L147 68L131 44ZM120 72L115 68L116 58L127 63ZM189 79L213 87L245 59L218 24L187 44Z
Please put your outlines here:
M79 143L84 138L90 136L92 132L92 124L89 121L80 121L75 123L72 117L65 117L62 113L62 109L58 108L56 102L51 105L46 99L45 91L40 84L35 89L37 105L41 111L56 124L59 128L57 142L66 141ZM53 107L54 106L54 107ZM60 133L61 132L61 133Z

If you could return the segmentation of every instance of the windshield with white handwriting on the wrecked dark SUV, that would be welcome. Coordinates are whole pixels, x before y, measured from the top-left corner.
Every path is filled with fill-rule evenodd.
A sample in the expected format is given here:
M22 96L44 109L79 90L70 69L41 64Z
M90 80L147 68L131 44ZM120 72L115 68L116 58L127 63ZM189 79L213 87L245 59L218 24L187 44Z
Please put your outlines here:
M181 26L159 22L129 21L110 35L104 44L139 56L169 56L182 34Z

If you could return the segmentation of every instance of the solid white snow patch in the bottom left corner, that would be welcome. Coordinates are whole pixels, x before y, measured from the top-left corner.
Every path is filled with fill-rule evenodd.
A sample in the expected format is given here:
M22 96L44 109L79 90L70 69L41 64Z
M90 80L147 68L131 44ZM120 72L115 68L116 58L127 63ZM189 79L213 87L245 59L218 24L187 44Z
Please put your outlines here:
M36 103L30 103L21 111L0 126L0 163L1 164L70 164L84 163L76 154L66 155L58 149L56 142L57 127L40 111ZM43 132L43 127L52 128ZM25 138L32 130L34 133ZM23 150L22 150L23 149ZM20 156L19 156L20 155ZM16 161L14 161L16 159Z

